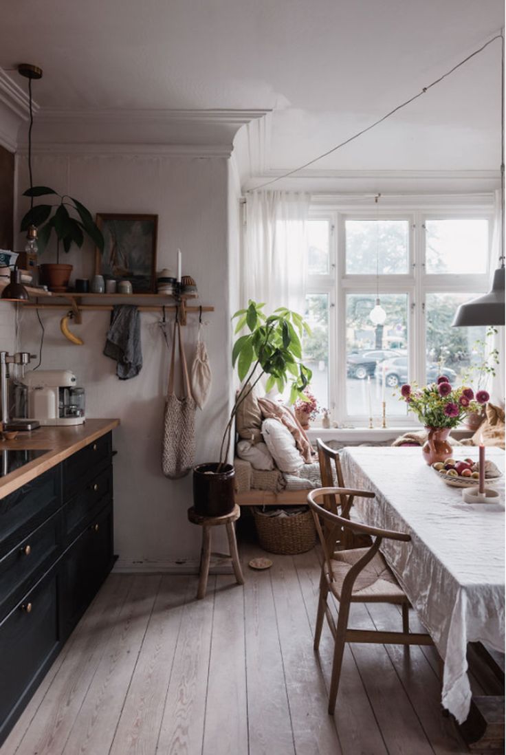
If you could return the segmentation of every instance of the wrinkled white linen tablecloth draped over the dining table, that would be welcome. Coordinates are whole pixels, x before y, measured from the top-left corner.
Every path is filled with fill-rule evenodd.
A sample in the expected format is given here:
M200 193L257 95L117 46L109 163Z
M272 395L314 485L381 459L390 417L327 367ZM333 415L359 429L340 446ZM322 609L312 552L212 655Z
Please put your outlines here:
M455 448L456 458L477 455ZM486 458L504 472L504 451L487 448ZM341 463L347 486L376 494L355 500L359 518L412 537L381 550L445 660L443 706L461 723L471 704L467 643L504 652L504 485L500 504L464 504L420 448L345 448Z

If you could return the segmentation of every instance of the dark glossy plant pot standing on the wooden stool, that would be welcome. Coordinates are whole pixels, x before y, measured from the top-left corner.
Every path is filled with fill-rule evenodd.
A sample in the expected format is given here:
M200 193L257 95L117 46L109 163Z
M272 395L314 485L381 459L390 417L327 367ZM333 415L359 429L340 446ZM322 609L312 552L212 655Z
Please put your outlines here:
M193 507L201 516L225 516L236 505L234 497L234 470L224 464L217 472L218 462L199 464L193 469Z

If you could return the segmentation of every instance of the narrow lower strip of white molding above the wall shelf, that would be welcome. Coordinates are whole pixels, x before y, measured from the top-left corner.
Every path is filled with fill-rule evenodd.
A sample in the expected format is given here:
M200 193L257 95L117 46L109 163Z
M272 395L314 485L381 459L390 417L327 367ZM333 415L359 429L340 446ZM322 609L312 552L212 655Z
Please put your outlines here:
M190 156L230 158L232 144L97 144L94 142L61 143L48 142L32 145L33 155L82 155L82 156ZM26 143L17 149L20 157L28 154Z

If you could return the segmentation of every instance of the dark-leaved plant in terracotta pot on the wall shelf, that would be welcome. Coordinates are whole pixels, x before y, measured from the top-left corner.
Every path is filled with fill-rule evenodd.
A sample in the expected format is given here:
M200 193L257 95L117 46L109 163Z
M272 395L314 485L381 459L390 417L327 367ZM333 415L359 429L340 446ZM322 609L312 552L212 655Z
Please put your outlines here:
M86 235L100 251L103 251L102 233L85 205L67 194L58 194L49 186L32 186L23 196L29 196L30 199L52 196L57 199L51 205L32 205L21 220L20 230L28 231L31 226L37 229L40 252L44 251L54 231L57 239L56 263L41 265L41 277L42 282L47 284L51 291L66 291L72 265L60 264L60 245L65 252L68 252L73 244L81 248Z

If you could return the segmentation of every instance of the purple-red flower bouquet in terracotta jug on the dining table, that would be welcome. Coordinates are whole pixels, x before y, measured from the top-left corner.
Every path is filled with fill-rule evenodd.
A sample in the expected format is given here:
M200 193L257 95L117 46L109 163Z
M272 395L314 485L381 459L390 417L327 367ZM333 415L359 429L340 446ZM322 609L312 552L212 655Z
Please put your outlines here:
M446 461L452 456L448 436L452 427L457 427L467 414L480 411L490 396L486 390L474 390L467 386L452 388L448 378L441 376L437 383L418 388L415 384L403 385L401 399L409 411L415 412L427 430L427 442L422 448L427 464Z

